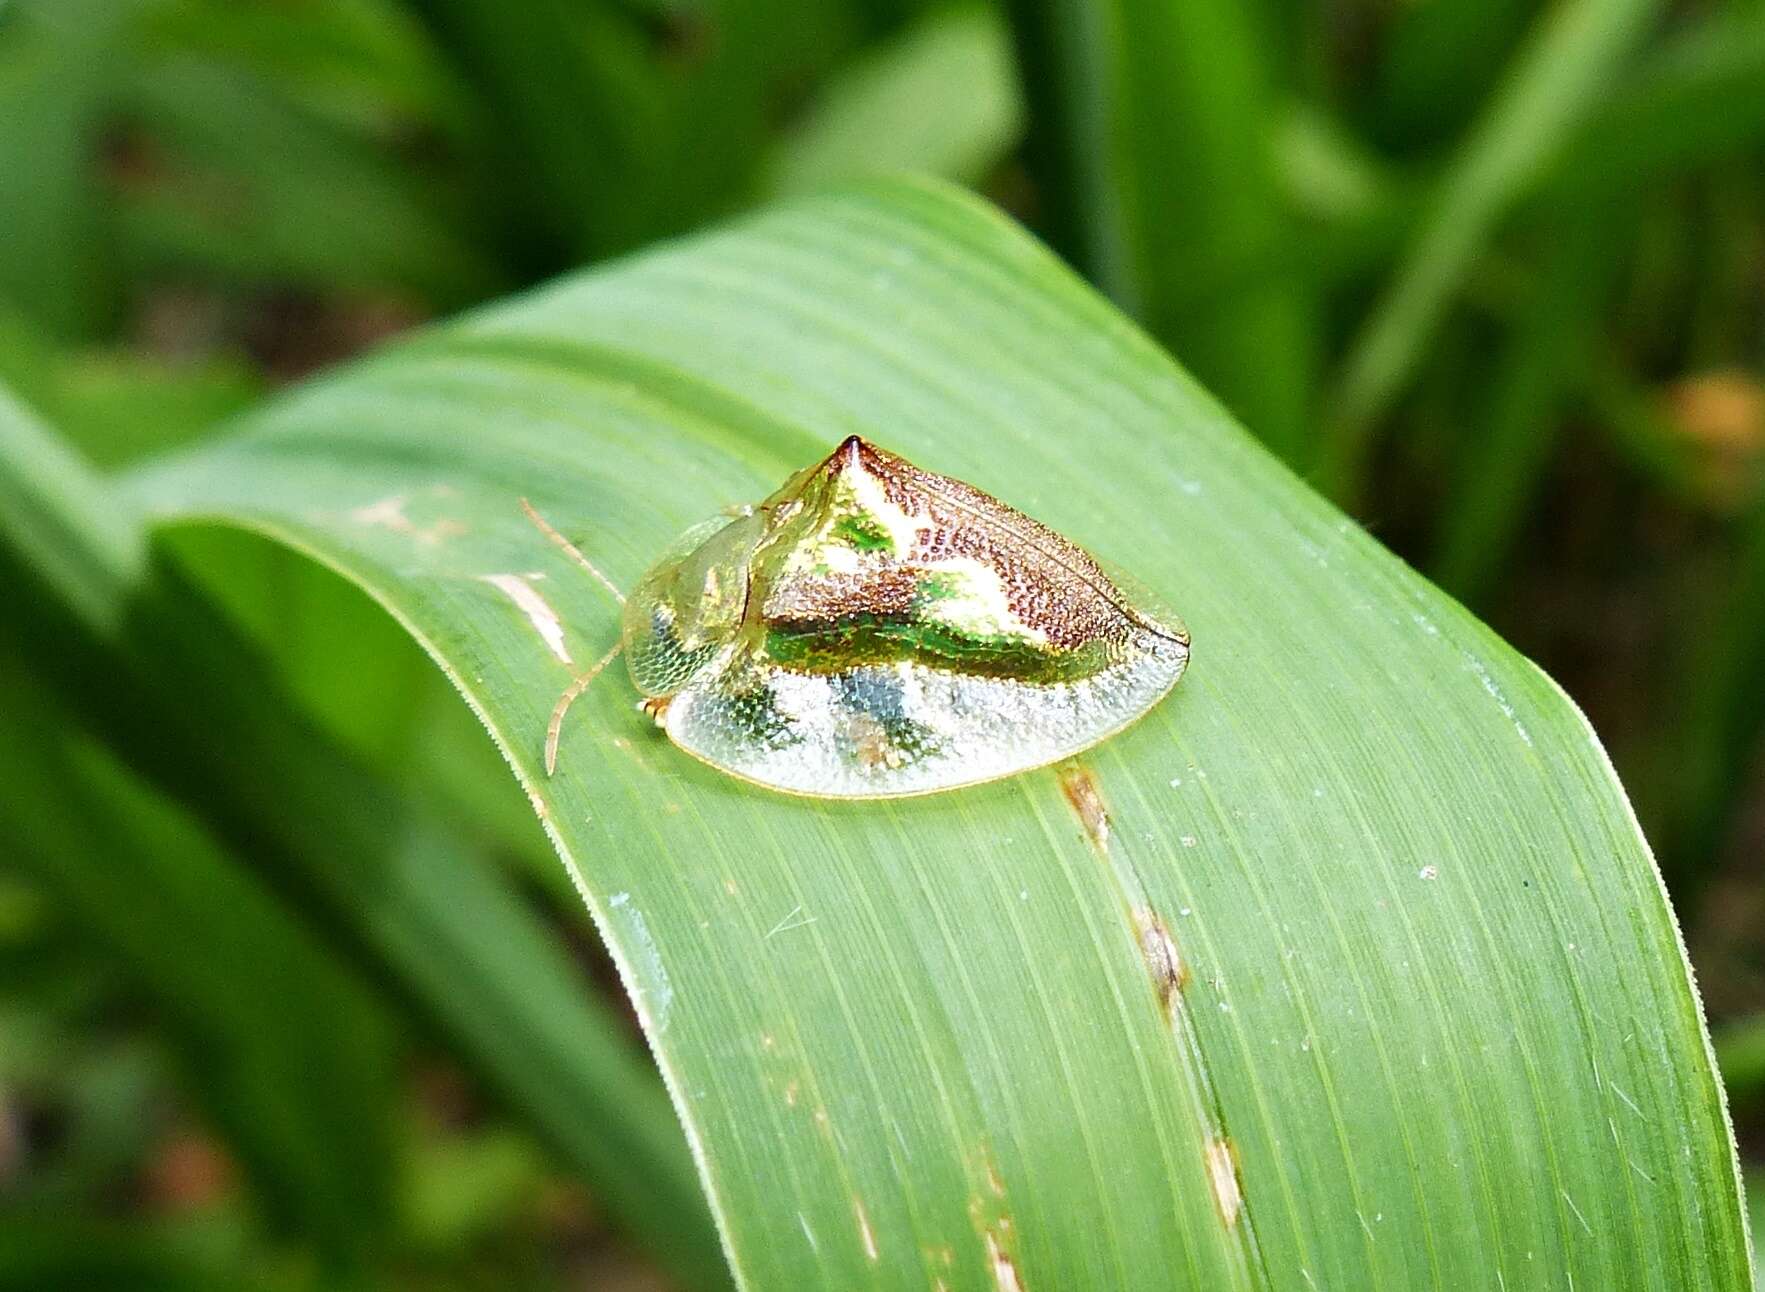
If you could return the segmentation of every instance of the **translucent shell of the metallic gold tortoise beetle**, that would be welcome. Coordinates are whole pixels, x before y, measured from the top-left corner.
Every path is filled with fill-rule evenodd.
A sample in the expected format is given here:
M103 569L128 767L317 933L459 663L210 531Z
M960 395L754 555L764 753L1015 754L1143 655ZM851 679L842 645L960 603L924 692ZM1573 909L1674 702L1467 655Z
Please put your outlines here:
M1190 635L1047 526L852 436L685 533L627 600L623 648L688 754L888 798L1094 745L1177 683Z

